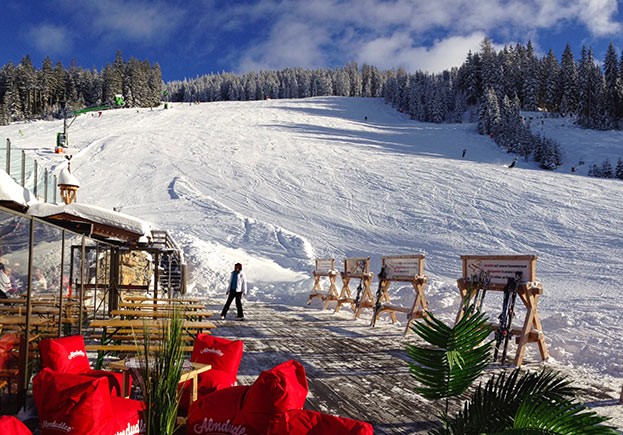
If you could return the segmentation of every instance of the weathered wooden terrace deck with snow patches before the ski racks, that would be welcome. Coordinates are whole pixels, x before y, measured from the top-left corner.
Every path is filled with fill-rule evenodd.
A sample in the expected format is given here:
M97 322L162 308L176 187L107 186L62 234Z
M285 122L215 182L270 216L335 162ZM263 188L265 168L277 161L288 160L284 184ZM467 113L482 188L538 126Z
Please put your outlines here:
M234 320L232 307L227 320L215 320L217 329L212 331L244 340L241 384L249 385L262 370L296 359L305 367L309 382L306 409L369 421L376 435L420 434L435 427L441 404L414 392L405 345L417 338L412 333L403 337L404 326L384 322L382 317L371 328L371 313L353 320L350 310L322 311L319 302L305 307L247 301L244 307L244 322ZM208 306L215 313L221 308L222 303L216 302ZM538 369L537 360L535 348L522 369ZM598 380L585 382L582 390L585 403L597 412L616 414L623 409L616 405L620 392L605 390ZM460 403L455 402L454 409ZM611 424L623 423L616 419Z

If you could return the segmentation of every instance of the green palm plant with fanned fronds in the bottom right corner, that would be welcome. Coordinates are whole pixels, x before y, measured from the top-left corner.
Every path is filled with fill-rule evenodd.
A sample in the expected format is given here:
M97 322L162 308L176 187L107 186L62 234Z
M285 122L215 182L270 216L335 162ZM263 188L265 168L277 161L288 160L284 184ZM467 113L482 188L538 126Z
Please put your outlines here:
M454 327L428 313L411 328L427 346L407 345L413 359L416 391L429 399L445 399L441 427L432 434L616 434L602 425L606 417L575 401L575 389L554 371L519 369L492 375L478 385L455 416L448 414L449 398L468 390L491 359L491 329L485 315L473 306Z

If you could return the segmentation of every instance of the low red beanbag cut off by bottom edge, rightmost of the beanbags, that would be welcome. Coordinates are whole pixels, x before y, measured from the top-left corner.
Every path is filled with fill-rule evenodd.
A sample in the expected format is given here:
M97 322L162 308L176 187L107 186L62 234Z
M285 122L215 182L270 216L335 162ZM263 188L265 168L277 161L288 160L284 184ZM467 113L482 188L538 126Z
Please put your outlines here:
M293 409L271 422L268 433L297 435L374 435L370 423L317 411Z

